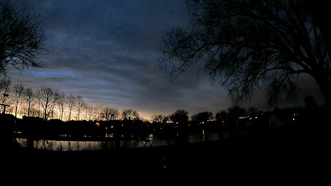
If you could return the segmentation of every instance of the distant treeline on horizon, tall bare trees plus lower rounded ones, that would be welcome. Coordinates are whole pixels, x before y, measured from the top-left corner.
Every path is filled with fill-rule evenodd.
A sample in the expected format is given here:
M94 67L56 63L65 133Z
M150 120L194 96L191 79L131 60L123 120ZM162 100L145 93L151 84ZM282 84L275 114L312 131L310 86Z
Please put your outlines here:
M6 107L6 113L15 117L33 116L43 118L44 121L59 119L61 121L114 121L114 120L139 120L139 113L136 110L122 110L116 108L88 105L82 96L66 94L50 87L41 87L39 90L32 90L22 84L11 85L10 79L1 79L0 83L1 103L10 105ZM237 117L257 112L254 107L247 111L239 107L230 107L228 111L221 111L215 116L212 112L201 112L188 115L185 110L177 110L169 116L161 114L151 116L152 122L174 122L183 121L211 121L214 119L225 119L225 113Z

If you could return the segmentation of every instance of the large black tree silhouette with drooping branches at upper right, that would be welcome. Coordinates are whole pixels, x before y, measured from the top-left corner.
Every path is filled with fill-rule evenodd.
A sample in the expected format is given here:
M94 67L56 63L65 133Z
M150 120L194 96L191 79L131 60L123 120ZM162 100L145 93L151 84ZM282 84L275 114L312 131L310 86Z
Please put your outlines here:
M235 101L249 100L254 88L267 83L270 105L293 100L293 78L309 74L330 108L328 7L320 0L188 1L192 24L163 36L159 62L177 74L204 62Z

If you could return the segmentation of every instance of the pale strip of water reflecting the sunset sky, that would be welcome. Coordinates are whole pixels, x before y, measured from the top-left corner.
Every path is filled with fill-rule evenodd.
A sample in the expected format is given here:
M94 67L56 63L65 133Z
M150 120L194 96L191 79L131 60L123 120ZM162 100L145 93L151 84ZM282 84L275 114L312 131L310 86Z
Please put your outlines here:
M151 134L152 135L152 134ZM203 141L219 141L225 138L232 138L234 136L250 136L249 132L222 132L205 134L188 134L187 136L181 136L181 141L186 143L199 143ZM179 142L179 137L172 138L170 143L167 143L165 139L153 137L152 146L172 145ZM17 141L22 147L28 147L29 141L26 138L17 138ZM139 140L126 140L121 141L121 147L134 148L143 147L143 143ZM33 147L35 149L45 149L53 151L79 151L79 150L95 150L95 149L114 149L116 147L116 141L51 141L51 140L35 140L33 141Z

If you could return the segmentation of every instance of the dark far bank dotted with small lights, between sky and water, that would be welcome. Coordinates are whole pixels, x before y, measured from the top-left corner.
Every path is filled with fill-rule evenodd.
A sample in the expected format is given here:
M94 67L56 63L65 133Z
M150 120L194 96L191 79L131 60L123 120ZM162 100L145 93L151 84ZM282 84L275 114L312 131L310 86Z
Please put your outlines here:
M235 106L218 112L215 117L211 112L201 112L189 117L187 111L177 110L170 116L154 116L153 121L142 121L134 117L109 121L61 121L59 119L44 121L39 117L23 116L20 119L11 115L12 118L6 122L12 126L12 134L15 137L77 140L137 138L142 134L150 133L157 134L160 138L167 138L192 132L208 134L229 130L263 133L282 126L290 128L299 126L308 130L320 129L325 125L326 110L323 106L314 103L310 96L306 96L305 100L307 103L304 107L282 109L275 107L272 112L262 112L254 107L246 110Z

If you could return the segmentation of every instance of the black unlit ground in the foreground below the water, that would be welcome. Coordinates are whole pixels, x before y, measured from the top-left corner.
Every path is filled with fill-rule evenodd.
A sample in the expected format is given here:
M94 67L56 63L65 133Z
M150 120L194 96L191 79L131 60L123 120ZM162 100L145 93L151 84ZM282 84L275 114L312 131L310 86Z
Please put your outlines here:
M325 134L292 131L205 143L79 152L25 149L12 143L8 163L10 172L35 176L31 178L42 175L82 180L97 176L124 183L133 178L146 183L154 178L164 182L266 179L267 183L325 178L330 182L329 144Z

